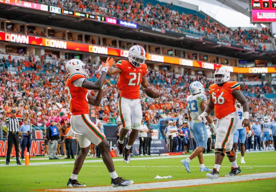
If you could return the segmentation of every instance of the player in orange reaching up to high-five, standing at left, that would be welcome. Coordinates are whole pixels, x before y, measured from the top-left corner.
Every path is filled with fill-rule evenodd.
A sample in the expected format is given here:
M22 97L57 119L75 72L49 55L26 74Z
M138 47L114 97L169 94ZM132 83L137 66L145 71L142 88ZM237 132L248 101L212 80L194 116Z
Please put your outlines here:
M72 175L67 183L68 187L85 187L85 185L77 181L77 177L91 143L100 148L103 161L110 173L113 187L128 186L133 183L133 181L118 177L110 155L110 145L105 135L99 131L99 128L89 118L88 103L95 106L100 105L106 74L110 66L114 63L114 59L110 59L109 57L106 63L102 62L101 75L95 83L86 79L88 77L88 70L84 68L85 64L81 60L71 59L65 66L68 79L64 89L68 95L70 110L72 112L70 118L71 132L69 134L78 134L78 143L81 148L76 158ZM95 98L88 93L88 89L98 91Z

